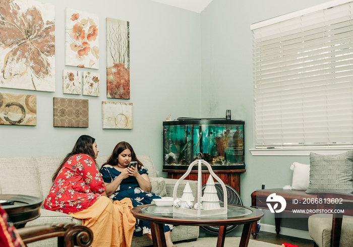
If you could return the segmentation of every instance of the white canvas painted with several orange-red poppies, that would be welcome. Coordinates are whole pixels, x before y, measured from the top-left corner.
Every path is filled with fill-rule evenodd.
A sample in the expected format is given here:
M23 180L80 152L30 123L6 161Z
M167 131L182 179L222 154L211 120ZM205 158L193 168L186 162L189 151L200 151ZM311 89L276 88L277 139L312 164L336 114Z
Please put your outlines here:
M66 9L65 65L99 68L98 15Z

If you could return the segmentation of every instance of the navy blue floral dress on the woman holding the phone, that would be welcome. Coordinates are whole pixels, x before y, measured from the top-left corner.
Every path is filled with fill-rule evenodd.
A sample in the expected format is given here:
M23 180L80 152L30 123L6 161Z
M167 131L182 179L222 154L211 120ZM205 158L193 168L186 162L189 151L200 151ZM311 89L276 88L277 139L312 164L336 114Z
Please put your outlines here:
M148 174L146 168L138 169L140 174ZM100 174L103 178L103 181L106 183L112 182L117 176L121 174L120 171L116 170L111 165L104 165L100 168ZM117 187L116 191L109 196L113 199L113 201L120 201L124 198L130 198L131 202L134 207L151 204L153 199L160 198L156 194L152 192L144 192L140 187L139 183L137 182L134 176L130 176L125 178L121 183L120 186ZM164 232L170 231L173 228L173 225L163 225ZM143 234L149 233L151 234L151 227L149 222L142 221L136 219L136 225L134 230L134 236L142 236Z

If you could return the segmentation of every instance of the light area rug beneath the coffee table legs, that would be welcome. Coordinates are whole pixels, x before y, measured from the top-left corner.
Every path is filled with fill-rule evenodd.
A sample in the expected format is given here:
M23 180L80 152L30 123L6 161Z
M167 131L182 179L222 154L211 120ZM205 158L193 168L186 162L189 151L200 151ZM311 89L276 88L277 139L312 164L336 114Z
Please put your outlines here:
M234 247L239 246L240 237L225 237L224 247ZM196 241L193 242L177 242L175 245L178 247L213 247L216 246L217 237L199 237ZM280 245L268 242L262 242L258 240L249 240L248 247L275 247Z

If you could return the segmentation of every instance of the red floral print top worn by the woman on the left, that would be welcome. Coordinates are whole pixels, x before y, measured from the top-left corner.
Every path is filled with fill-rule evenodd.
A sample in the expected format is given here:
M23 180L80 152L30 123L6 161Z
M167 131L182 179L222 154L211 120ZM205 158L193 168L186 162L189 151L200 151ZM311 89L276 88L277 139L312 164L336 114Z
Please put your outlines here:
M76 154L63 165L44 200L44 208L63 213L80 212L90 207L105 191L94 160Z

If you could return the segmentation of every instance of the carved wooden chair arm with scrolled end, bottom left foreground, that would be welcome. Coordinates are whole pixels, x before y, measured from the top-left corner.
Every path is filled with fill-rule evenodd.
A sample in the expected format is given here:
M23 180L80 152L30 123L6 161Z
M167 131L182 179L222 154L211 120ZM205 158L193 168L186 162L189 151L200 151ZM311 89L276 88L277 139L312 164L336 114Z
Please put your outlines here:
M28 226L17 229L24 243L35 242L51 237L58 237L59 247L88 247L93 241L93 232L83 225L71 223L52 223Z

